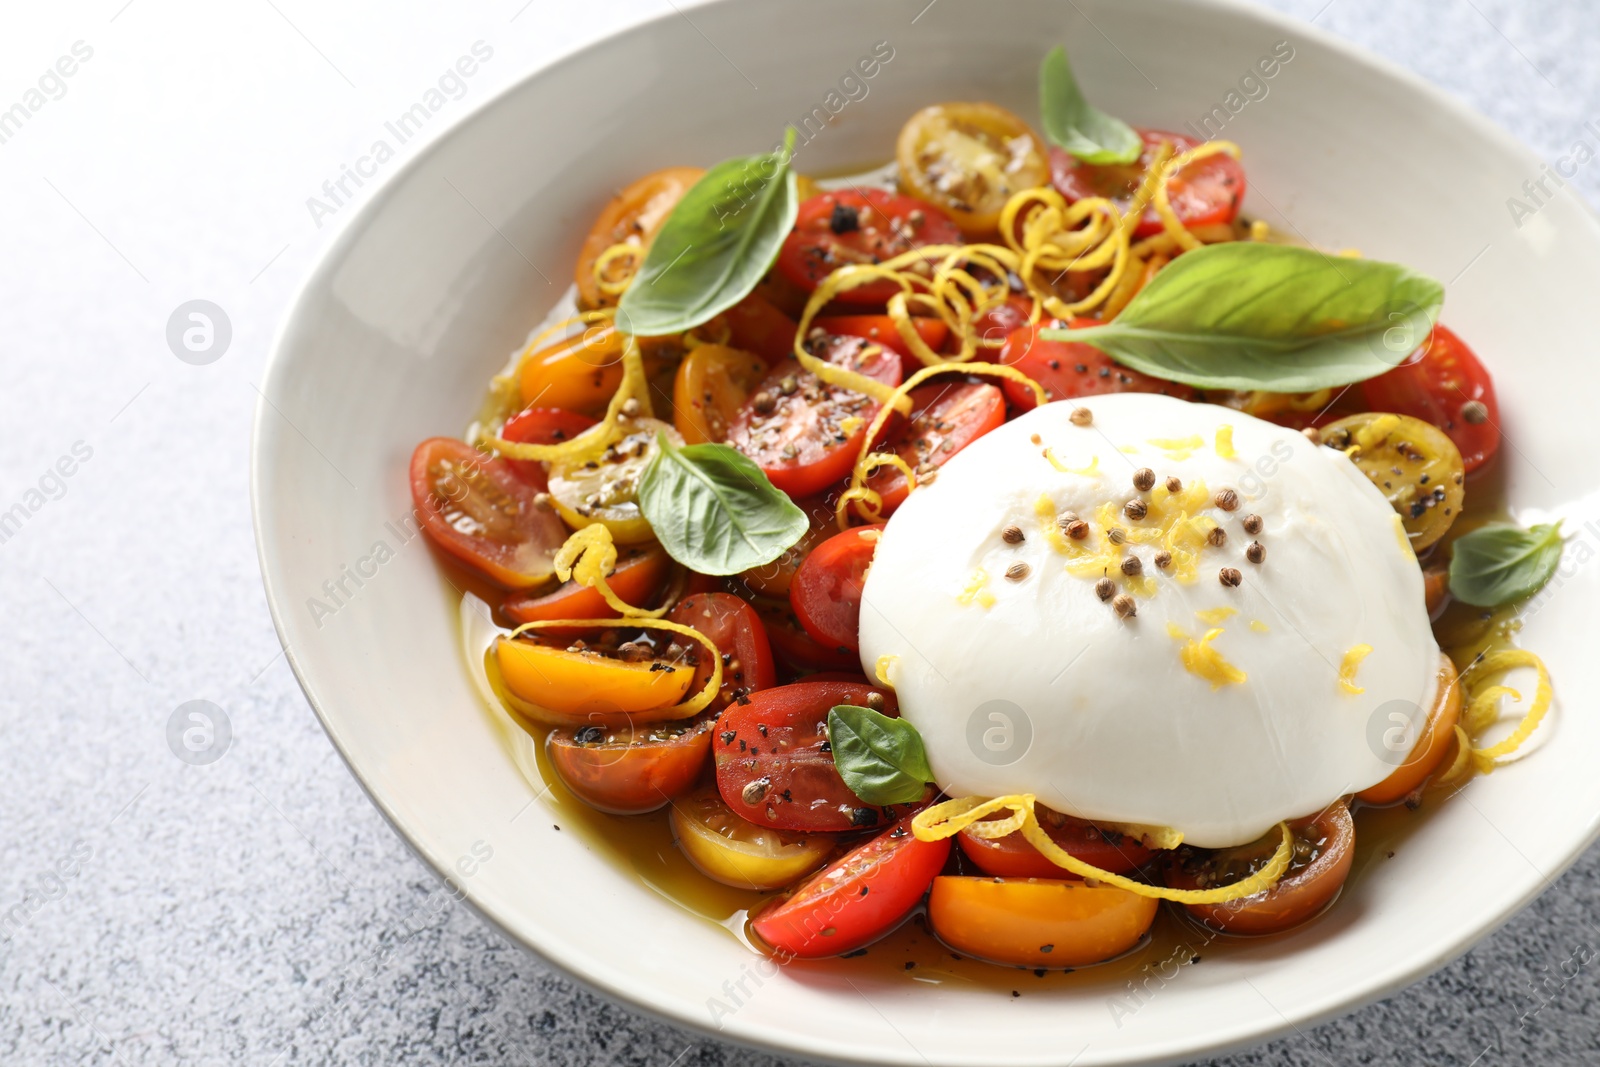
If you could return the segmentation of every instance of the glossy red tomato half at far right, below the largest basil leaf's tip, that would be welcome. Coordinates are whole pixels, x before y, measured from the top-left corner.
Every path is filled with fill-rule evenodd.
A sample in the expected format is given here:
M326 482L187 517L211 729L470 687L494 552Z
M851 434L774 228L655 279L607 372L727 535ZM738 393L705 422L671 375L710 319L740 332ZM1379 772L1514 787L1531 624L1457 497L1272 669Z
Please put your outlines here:
M1494 381L1467 342L1445 326L1434 326L1405 363L1362 382L1362 394L1371 411L1410 414L1445 430L1469 474L1499 448Z

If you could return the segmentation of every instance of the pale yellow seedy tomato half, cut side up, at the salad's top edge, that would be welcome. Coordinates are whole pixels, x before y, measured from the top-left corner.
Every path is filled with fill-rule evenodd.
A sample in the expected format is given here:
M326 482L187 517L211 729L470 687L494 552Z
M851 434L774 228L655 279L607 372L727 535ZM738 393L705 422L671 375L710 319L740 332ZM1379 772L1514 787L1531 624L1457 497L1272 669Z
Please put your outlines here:
M1045 144L995 104L934 104L910 117L894 146L901 186L949 213L968 237L992 235L1013 194L1050 184Z

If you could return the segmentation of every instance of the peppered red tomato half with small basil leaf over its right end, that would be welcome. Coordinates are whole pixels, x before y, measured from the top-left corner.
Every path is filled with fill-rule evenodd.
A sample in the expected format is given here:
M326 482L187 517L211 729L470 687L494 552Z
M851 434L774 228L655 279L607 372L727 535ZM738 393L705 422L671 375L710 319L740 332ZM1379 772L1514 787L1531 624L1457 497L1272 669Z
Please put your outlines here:
M864 830L899 819L907 805L880 808L850 792L827 747L827 713L835 704L866 705L894 696L853 681L795 681L752 693L717 721L712 757L717 790L734 814L776 830Z

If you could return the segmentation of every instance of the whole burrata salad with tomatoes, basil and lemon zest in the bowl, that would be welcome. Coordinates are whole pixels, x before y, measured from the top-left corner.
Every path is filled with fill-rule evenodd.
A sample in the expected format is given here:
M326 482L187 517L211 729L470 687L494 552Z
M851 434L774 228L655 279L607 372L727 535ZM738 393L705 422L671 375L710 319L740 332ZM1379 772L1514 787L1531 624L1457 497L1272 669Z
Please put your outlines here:
M531 797L779 961L1043 973L1307 923L1373 813L1517 758L1562 531L1480 477L1437 280L1285 240L1061 48L872 171L779 133L606 200L411 459Z

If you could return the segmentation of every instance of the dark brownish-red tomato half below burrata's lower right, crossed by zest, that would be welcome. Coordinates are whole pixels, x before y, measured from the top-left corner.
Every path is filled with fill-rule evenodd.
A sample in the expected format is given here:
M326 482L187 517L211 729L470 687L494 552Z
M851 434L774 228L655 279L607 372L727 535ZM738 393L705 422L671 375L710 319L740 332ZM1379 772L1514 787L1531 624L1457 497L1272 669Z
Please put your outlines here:
M1275 886L1226 904L1186 904L1184 909L1230 934L1275 934L1320 913L1339 894L1355 859L1355 822L1342 801L1310 819L1290 824L1294 856ZM1261 840L1237 848L1182 846L1166 854L1162 877L1173 889L1210 889L1259 870L1282 843L1277 827Z

